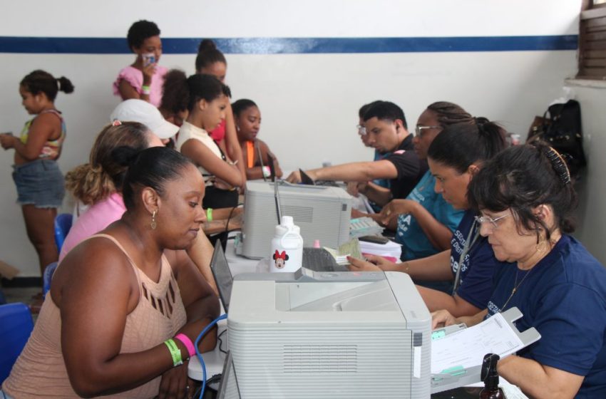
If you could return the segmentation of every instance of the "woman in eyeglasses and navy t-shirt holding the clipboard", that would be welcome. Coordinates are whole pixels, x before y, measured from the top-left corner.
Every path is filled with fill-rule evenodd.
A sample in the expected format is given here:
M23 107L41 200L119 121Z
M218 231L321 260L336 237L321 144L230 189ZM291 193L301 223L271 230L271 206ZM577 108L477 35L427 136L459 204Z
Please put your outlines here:
M498 372L532 398L606 398L606 269L570 237L575 190L563 158L547 145L515 146L488 162L469 188L481 236L498 266L487 308L434 326L480 322L516 306L520 331L536 343L498 363Z

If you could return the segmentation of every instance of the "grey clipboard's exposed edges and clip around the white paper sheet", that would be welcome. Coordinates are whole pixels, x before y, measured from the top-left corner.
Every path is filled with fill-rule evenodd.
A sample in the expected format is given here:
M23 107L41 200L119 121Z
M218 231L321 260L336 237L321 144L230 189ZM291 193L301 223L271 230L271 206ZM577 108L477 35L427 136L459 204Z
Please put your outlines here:
M517 307L514 306L513 308L504 311L501 315L505 319L505 322L508 323L508 326L515 333L515 335L520 338L520 341L522 341L522 346L518 348L518 350L525 348L526 346L529 346L531 343L535 343L540 339L540 333L534 327L528 328L528 330L523 332L518 331L518 328L515 327L513 322L523 316L522 312L520 312ZM461 325L453 326L453 328L438 328L436 331L441 330L443 330L443 336L448 336L452 333L460 332ZM436 339L439 339L437 338L438 336L441 336L441 332L438 332L438 334L436 335ZM442 392L443 390L451 390L465 385L479 383L481 381L481 368L481 364L471 368L455 366L442 371L442 373L432 373L431 393L438 393Z

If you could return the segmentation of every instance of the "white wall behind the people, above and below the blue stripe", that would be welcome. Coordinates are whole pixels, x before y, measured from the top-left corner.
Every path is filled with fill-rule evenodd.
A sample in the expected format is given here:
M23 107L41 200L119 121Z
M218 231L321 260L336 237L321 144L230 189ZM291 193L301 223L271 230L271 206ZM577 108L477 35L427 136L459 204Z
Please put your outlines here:
M577 33L580 0L106 0L3 4L0 36L125 37L137 19L155 21L164 38L543 36ZM32 11L34 10L34 11ZM118 11L120 10L120 11ZM441 10L441 11L436 11ZM536 17L540 16L540 24ZM94 53L95 49L91 49ZM193 54L165 54L168 67L193 72ZM130 55L0 53L0 131L18 133L28 118L17 88L43 68L67 76L75 93L60 93L68 139L65 172L86 162L91 143L118 103L111 82ZM463 105L525 134L575 74L575 51L448 53L227 54L234 99L261 108L261 138L287 170L371 158L356 135L357 110L371 100L399 103L414 125L436 100ZM10 176L0 153L0 259L36 276ZM64 210L68 210L68 201Z

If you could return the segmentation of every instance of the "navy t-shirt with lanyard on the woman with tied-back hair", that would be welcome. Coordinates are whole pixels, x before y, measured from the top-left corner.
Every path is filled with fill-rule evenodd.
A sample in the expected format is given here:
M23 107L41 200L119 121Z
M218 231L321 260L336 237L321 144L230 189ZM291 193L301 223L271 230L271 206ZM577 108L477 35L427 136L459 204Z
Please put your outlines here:
M456 294L476 306L476 308L485 309L493 292L493 274L496 267L500 265L511 266L512 264L498 261L495 258L491 244L488 244L488 239L479 234L476 236L478 225L474 223L474 216L473 211L466 211L453 234L451 240L451 269L453 276L456 276L456 271L461 266L461 273L459 274L461 280ZM469 231L472 227L473 233L470 236ZM463 258L463 262L459 265L463 247L468 237L472 240L474 237L477 238L465 258Z

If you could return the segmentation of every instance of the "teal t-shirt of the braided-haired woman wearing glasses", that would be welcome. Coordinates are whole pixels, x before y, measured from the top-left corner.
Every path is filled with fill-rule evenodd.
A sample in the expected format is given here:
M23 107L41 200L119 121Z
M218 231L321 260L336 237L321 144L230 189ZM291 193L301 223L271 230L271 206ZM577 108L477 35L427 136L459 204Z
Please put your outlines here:
M454 209L434 190L435 186L436 177L427 171L406 199L421 204L438 222L454 232L465 211ZM418 221L411 214L401 214L398 217L396 242L402 244L402 261L429 257L439 252L431 245Z

